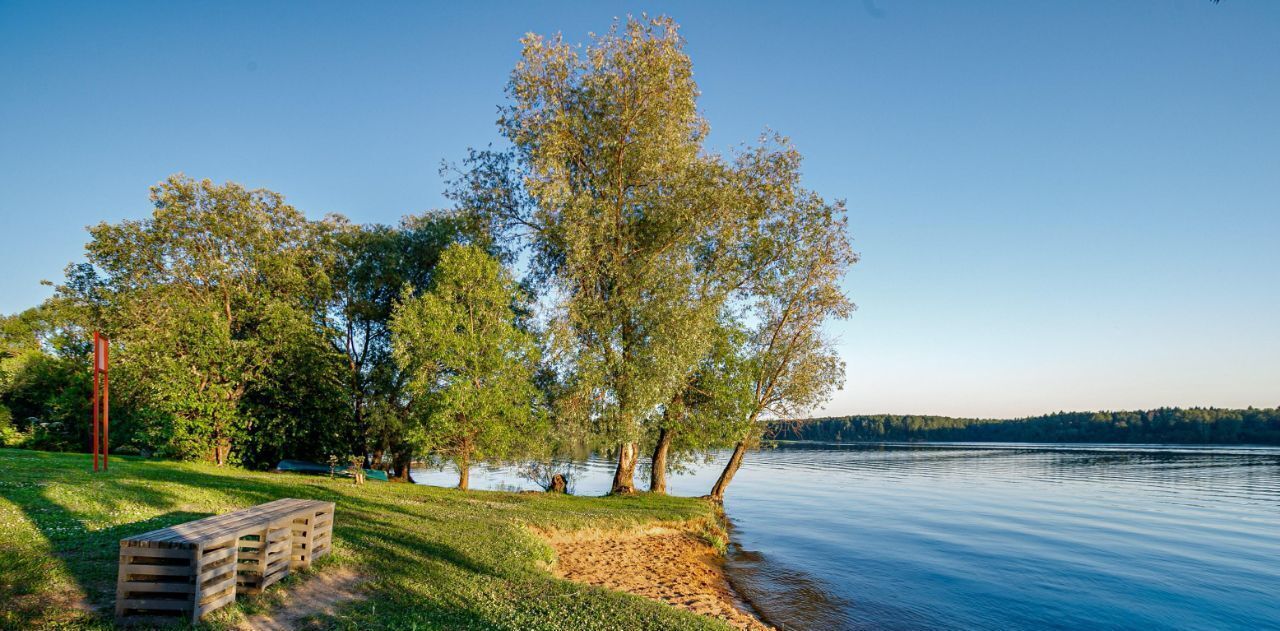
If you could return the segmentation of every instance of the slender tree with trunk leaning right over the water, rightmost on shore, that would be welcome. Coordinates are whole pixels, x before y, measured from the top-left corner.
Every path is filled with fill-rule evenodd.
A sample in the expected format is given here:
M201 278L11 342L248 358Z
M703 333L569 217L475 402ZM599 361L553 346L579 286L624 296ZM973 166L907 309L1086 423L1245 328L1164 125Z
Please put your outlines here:
M768 210L751 244L745 291L745 370L735 384L745 401L737 442L709 494L723 500L762 420L791 419L826 402L844 384L844 362L823 324L845 319L854 305L840 287L858 256L849 246L844 202L800 187L794 150L760 150L741 160L750 188Z

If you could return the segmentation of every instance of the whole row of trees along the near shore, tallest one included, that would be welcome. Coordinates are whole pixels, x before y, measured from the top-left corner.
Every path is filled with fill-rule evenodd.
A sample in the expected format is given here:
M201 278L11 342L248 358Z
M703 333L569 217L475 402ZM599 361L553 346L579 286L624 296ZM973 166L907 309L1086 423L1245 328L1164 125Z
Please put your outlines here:
M0 439L84 449L88 339L113 343L111 448L265 468L356 454L609 453L613 493L730 448L841 387L823 325L854 308L842 201L767 134L728 155L677 26L580 47L529 35L497 148L447 166L453 206L308 219L276 192L173 175L90 227L45 303L0 320Z

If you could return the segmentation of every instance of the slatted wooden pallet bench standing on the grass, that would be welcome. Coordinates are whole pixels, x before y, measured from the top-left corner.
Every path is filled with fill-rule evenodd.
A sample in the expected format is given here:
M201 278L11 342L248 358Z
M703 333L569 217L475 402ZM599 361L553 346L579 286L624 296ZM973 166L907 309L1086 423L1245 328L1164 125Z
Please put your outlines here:
M329 553L333 502L276 499L120 540L115 617L201 616Z

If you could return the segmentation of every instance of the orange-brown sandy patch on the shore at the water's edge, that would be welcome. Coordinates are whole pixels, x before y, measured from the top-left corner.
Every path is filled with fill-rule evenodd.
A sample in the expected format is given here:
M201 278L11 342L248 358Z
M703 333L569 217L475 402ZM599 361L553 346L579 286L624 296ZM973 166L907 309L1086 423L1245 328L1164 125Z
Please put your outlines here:
M561 579L652 598L737 628L772 628L733 593L716 548L685 529L539 534L556 549L552 572Z

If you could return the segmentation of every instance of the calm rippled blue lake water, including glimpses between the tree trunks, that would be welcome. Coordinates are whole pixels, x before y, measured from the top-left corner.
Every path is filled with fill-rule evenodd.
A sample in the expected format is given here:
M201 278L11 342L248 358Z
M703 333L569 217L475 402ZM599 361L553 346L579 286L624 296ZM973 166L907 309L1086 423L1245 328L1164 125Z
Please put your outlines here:
M726 511L735 586L782 628L1280 628L1276 448L792 443L748 454Z

